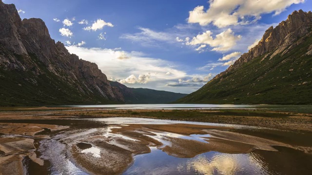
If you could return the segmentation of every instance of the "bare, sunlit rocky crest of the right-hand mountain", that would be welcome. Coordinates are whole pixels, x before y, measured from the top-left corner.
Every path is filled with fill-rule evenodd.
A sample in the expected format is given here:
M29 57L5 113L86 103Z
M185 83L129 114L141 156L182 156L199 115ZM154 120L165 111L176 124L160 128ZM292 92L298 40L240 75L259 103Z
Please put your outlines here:
M248 53L244 53L229 67L227 71L240 67L243 63L255 57L274 51L270 57L281 53L285 54L292 49L292 44L300 37L307 35L312 28L312 12L302 10L294 11L285 21L280 22L275 28L271 26L263 35L259 43ZM285 49L287 49L285 51Z

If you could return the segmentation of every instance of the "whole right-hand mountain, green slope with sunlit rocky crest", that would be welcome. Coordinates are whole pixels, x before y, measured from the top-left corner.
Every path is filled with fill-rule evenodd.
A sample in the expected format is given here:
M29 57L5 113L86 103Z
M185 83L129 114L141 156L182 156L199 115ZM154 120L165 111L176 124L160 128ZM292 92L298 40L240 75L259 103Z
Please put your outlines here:
M312 13L294 11L227 70L177 103L312 104Z

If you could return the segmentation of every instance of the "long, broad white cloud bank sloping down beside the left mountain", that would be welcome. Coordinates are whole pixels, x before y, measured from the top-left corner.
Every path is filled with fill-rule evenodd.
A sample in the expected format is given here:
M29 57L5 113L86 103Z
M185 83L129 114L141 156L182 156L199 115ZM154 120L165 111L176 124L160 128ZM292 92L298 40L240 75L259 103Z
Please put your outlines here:
M118 49L84 48L84 47L66 47L70 53L77 54L80 58L95 62L98 67L109 77L116 79L125 79L129 74L140 75L151 73L154 78L151 81L163 79L183 78L186 73L175 69L176 63L157 59L142 57L143 53L125 52ZM120 57L128 59L120 59ZM166 73L172 72L171 76ZM157 76L156 76L157 75Z

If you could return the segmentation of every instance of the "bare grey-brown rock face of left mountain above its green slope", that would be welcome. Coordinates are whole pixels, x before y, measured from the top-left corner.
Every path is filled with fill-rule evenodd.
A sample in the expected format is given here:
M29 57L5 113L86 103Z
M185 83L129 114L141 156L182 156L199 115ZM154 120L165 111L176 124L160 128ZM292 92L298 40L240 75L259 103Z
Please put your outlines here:
M99 103L124 102L123 96L115 92L116 89L110 86L106 75L98 66L70 54L61 42L56 43L51 39L48 28L41 19L21 20L14 4L0 1L0 28L2 77L7 77L8 71L23 71L21 76L25 76L26 85L34 86L34 92L38 82L49 79L51 86L59 89L62 95L66 94L68 99L78 95L86 101L94 102L92 99L97 99Z

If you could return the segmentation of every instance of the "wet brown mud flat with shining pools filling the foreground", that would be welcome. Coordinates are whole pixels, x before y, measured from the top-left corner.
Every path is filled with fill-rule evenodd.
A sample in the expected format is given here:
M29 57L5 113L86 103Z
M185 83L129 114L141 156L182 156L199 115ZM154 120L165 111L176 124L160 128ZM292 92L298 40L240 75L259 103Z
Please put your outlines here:
M312 132L144 118L0 120L0 174L309 174Z

